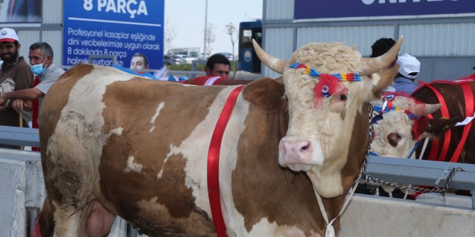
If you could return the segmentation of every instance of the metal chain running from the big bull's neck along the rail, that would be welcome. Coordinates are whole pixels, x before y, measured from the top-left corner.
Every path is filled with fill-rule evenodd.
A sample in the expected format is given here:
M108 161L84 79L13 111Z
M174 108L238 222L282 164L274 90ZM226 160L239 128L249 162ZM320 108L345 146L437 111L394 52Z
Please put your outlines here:
M457 171L464 171L464 169L462 169L462 168L452 168L452 170L450 171L450 173L447 177L447 183L445 184L444 188L440 188L440 187L424 188L424 187L418 187L418 186L406 187L406 186L403 186L399 183L391 183L391 182L387 182L387 181L384 181L384 180L379 180L378 178L374 178L373 176L369 175L369 173L366 172L366 168L367 168L367 163L368 163L369 150L371 150L371 144L373 143L373 131L374 131L374 127L373 127L373 123L372 123L374 108L373 108L373 105L371 105L371 103L368 103L368 110L369 110L368 111L369 112L368 150L367 150L366 154L364 155L364 161L363 161L362 169L359 171L358 178L356 180L354 180L354 183L359 182L360 184L371 185L371 186L374 186L374 187L379 187L379 186L393 187L393 188L397 188L397 189L399 189L403 192L406 192L406 191L409 191L409 192L423 192L423 193L435 192L435 193L442 193L442 194L445 194L447 192L453 192L453 189L449 188L450 182L452 181L452 178L454 177L454 174Z

